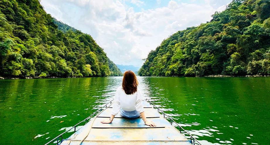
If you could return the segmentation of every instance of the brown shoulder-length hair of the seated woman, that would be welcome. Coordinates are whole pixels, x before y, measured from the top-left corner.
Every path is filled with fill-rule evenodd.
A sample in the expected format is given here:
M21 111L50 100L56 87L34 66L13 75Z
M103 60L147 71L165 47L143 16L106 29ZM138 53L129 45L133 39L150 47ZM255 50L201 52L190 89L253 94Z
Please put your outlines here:
M137 91L139 85L136 75L133 71L127 70L124 72L122 87L127 95L133 94Z

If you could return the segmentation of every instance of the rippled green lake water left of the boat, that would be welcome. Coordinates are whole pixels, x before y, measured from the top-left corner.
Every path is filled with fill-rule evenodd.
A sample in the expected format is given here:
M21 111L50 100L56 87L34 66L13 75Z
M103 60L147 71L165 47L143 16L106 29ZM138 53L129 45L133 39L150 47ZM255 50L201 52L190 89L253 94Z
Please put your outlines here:
M121 77L1 80L1 142L45 144L112 100L121 83Z

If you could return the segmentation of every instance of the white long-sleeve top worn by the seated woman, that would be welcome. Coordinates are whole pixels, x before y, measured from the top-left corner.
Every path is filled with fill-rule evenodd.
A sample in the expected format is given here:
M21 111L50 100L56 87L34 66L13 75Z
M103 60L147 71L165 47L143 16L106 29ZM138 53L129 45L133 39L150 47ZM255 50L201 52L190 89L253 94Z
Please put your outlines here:
M137 88L135 93L127 95L122 86L120 86L115 93L112 115L117 115L121 108L125 111L137 110L139 113L142 113L144 111L142 100L143 97L139 88Z

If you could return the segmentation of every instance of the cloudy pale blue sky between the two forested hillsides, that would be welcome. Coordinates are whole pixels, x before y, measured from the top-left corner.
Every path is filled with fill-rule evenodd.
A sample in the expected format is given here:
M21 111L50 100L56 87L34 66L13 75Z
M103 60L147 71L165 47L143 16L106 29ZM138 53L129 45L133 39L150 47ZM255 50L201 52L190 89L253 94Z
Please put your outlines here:
M232 0L41 0L57 20L93 37L115 64L141 67L177 31L211 20Z

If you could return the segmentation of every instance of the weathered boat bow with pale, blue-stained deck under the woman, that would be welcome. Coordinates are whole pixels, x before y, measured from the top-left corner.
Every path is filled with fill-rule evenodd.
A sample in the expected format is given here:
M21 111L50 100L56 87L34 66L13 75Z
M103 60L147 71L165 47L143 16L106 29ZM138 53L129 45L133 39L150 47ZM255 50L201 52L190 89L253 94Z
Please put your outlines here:
M156 127L145 125L141 117L127 119L122 117L120 113L115 116L112 123L100 123L100 121L111 116L113 106L113 100L111 100L91 116L66 130L47 144L55 141L54 143L57 145L201 145L196 138L150 100L146 99L142 102L147 120L153 121L157 125ZM95 114L97 115L94 116ZM76 126L83 122L86 122L86 124L76 131ZM63 140L63 135L72 129L74 129L74 134ZM187 138L185 134L189 137Z

